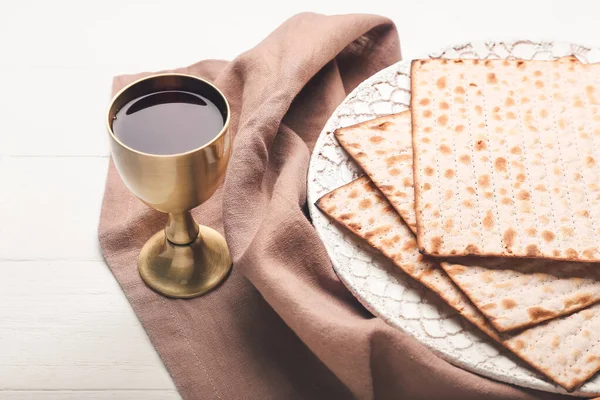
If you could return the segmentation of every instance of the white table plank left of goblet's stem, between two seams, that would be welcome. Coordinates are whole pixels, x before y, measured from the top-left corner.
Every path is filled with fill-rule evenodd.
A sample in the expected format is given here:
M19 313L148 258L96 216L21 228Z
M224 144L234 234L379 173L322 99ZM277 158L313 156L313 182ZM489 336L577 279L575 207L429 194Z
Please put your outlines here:
M3 157L0 260L101 260L107 158Z

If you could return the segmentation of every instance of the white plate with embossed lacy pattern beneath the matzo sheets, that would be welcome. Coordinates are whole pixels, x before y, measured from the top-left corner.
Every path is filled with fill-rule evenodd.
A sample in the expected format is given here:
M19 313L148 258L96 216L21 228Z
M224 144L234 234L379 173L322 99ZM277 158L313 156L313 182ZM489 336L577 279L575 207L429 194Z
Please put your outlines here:
M600 49L561 42L470 42L431 58L519 58L552 60L575 55L600 61ZM414 336L452 364L498 381L548 392L564 389L527 367L389 260L332 223L314 205L322 195L362 175L336 142L333 131L378 116L406 110L410 104L410 60L400 61L360 84L335 110L319 137L308 172L308 201L317 232L333 267L350 291L373 314ZM600 395L600 376L575 395Z

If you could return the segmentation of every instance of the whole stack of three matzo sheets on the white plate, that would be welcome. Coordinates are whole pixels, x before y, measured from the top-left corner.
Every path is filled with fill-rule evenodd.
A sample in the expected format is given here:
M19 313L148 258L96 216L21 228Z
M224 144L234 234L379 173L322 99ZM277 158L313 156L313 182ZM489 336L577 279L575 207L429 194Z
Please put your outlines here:
M600 370L599 68L414 61L410 111L335 133L367 176L317 203L567 390Z

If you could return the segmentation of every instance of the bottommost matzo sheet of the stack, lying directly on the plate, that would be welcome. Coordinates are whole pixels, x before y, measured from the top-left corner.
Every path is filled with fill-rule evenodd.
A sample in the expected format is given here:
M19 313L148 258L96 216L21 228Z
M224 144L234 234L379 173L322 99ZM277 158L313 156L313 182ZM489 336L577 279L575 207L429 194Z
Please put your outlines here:
M338 188L318 207L409 276L437 293L464 318L567 390L600 369L600 305L529 328L500 335L432 258L421 255L412 232L367 177Z

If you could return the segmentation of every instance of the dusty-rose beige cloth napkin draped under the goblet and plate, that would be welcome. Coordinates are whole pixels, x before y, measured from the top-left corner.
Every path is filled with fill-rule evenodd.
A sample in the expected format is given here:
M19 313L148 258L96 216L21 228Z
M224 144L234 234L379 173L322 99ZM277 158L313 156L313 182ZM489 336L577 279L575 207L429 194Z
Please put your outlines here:
M224 232L234 259L206 296L171 300L142 283L138 253L165 216L135 199L111 163L102 250L185 399L560 397L463 371L374 318L337 278L306 216L321 128L357 84L399 59L386 18L301 14L232 62L177 70L214 81L233 110L225 183L194 210ZM113 92L143 75L115 78Z

